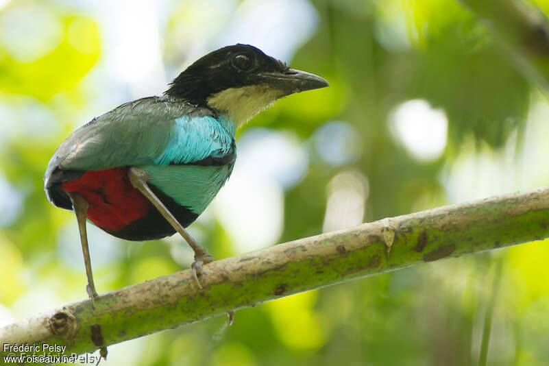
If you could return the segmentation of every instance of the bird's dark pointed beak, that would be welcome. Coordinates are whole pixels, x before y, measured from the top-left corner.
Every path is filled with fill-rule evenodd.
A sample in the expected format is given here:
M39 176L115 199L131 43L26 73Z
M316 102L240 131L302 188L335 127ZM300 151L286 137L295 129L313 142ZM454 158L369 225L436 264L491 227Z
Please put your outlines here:
M269 85L283 90L284 95L330 86L326 80L315 74L294 69L288 69L280 73L260 73L258 77L265 80Z

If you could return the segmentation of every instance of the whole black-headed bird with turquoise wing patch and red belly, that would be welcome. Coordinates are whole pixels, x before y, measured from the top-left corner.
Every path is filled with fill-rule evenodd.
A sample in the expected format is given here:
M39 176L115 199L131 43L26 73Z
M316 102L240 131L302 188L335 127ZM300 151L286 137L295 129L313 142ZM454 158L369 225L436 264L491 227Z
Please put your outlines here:
M202 288L198 276L213 258L185 228L229 179L236 130L277 99L326 86L252 45L230 45L196 60L163 95L124 103L66 138L47 165L45 193L75 212L93 306L86 221L130 241L179 232Z

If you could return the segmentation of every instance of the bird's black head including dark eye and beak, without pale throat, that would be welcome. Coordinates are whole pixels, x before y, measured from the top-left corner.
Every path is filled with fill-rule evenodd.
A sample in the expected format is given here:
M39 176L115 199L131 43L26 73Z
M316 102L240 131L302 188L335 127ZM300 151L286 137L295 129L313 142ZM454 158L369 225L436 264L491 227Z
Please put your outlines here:
M217 96L219 99L225 90L241 90L238 97L242 99L243 88L248 87L246 93L249 94L249 87L258 86L254 89L255 94L270 93L274 101L284 95L324 88L328 82L316 75L290 69L256 47L239 44L208 53L188 66L170 85L164 94L212 106L212 98ZM234 92L222 95L225 103L228 94L234 95Z

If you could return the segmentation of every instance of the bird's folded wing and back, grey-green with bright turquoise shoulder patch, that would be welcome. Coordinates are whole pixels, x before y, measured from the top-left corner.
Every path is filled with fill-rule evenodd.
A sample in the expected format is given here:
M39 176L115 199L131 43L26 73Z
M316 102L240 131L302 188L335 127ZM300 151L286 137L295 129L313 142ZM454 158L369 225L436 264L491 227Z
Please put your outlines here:
M125 103L80 127L58 147L45 174L48 198L56 206L71 208L60 183L90 170L221 166L228 157L232 162L231 129L234 127L230 121L216 119L211 110L181 99L148 97ZM165 171L156 171L155 178L162 180L163 175L173 174L173 169Z

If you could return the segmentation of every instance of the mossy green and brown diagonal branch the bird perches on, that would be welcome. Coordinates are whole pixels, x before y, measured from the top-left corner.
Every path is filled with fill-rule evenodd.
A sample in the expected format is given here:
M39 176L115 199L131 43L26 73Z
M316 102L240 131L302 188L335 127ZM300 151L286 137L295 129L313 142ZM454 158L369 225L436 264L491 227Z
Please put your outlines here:
M69 304L0 328L0 345L93 352L300 291L548 236L549 188L435 208L209 263L202 290L186 270L101 295L95 310L89 300Z

